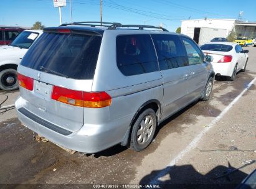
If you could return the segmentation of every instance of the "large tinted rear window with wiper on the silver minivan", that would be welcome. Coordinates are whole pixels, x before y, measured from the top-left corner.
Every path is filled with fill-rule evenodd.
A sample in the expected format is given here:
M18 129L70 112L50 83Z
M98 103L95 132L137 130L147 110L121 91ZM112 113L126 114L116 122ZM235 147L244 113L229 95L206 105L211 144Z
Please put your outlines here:
M77 80L92 79L101 42L96 35L44 33L21 65Z

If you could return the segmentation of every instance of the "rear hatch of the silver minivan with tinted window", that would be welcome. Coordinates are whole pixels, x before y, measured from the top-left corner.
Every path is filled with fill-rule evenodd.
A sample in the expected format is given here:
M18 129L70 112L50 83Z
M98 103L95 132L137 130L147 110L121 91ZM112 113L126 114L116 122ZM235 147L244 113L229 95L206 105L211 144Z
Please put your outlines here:
M47 124L78 131L83 107L77 102L83 91L92 91L102 34L78 27L45 29L18 68L24 109Z

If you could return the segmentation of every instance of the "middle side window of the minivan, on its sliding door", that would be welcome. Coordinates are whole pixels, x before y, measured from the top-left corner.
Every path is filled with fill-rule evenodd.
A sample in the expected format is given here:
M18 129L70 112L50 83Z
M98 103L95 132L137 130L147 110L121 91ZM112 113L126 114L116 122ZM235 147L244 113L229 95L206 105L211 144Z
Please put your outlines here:
M187 55L184 52L178 35L151 35L158 54L160 70L184 67L188 65Z

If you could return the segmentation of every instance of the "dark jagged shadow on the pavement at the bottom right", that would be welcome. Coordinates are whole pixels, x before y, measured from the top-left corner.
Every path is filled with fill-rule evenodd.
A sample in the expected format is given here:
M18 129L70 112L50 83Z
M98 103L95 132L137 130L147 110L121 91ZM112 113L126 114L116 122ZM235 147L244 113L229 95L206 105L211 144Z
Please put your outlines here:
M234 172L233 172L234 171ZM232 173L231 173L232 172ZM230 173L227 176L223 175ZM140 184L150 188L150 185L159 185L159 188L235 188L247 177L247 173L229 167L218 165L205 175L199 173L192 165L166 167L162 170L153 170L140 180ZM246 187L250 188L250 187Z

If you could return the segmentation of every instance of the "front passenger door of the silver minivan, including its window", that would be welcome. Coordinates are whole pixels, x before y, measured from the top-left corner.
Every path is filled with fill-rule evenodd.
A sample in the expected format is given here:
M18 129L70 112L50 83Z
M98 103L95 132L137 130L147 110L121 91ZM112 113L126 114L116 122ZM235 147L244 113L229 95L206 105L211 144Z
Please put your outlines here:
M189 69L191 70L188 79L188 96L192 101L200 97L206 85L207 63L204 63L204 55L193 40L187 37L181 37L181 40L186 48Z

